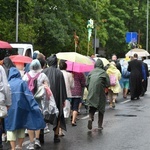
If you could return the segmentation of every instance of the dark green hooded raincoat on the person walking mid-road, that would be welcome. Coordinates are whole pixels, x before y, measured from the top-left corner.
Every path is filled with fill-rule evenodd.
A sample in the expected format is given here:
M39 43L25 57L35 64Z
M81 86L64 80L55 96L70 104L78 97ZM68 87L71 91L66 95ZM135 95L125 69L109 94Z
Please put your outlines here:
M105 88L110 84L109 77L103 68L103 62L98 59L95 63L95 69L88 74L86 80L87 103L89 106L97 108L102 114L105 112L106 104Z

